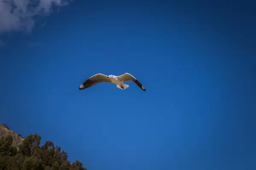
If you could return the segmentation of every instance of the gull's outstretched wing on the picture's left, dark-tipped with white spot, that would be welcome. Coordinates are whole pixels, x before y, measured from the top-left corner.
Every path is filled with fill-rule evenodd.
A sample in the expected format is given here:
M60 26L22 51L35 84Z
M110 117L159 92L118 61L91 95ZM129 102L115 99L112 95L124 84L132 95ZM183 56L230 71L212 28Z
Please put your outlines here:
M95 74L89 79L87 79L83 84L80 85L79 90L84 90L85 88L89 88L93 85L96 85L101 82L112 82L111 79L107 78L108 76L104 74Z

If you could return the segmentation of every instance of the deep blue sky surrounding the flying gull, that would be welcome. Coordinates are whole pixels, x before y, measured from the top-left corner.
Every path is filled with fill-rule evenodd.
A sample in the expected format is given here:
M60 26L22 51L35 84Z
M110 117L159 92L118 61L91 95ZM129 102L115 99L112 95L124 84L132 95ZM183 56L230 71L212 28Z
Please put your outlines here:
M88 170L255 169L256 4L230 2L74 0L8 27L0 121ZM146 91L78 90L125 72Z

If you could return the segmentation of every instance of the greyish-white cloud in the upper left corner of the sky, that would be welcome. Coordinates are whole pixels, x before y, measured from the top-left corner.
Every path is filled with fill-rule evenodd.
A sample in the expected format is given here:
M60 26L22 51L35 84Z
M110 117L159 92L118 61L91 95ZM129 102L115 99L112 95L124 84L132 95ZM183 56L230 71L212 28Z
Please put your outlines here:
M64 6L68 0L0 0L0 34L28 31L35 25L36 15L49 15L53 6Z

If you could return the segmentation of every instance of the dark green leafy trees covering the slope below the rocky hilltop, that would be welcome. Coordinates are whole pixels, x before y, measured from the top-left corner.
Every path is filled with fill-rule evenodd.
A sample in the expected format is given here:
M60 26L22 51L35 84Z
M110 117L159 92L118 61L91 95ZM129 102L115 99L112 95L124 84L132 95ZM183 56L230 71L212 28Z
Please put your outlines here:
M87 170L80 161L71 164L61 147L50 141L39 146L40 141L35 133L16 148L11 135L0 139L0 170Z

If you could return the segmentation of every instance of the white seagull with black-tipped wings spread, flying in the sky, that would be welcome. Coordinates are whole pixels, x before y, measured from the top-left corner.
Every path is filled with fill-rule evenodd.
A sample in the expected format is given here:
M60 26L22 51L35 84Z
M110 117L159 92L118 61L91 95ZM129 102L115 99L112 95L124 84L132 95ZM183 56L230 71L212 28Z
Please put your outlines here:
M123 82L133 81L137 86L139 86L143 91L146 91L144 86L131 74L125 73L121 76L114 76L109 75L106 76L104 74L95 74L89 79L87 79L83 84L80 85L79 90L84 90L85 88L89 88L93 85L96 85L101 82L109 82L116 84L117 88L120 88L122 90L125 90L129 87L129 85L126 85Z

